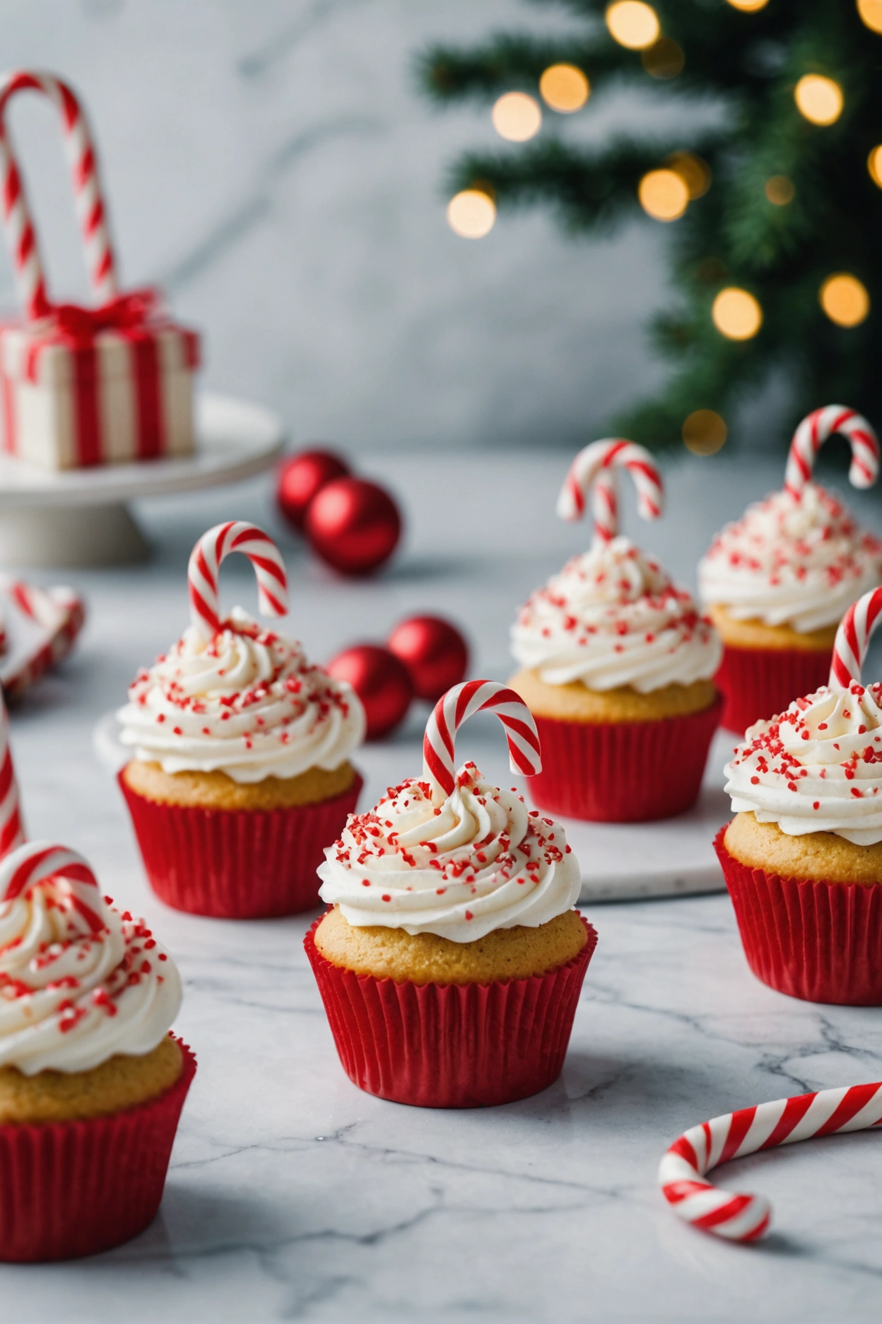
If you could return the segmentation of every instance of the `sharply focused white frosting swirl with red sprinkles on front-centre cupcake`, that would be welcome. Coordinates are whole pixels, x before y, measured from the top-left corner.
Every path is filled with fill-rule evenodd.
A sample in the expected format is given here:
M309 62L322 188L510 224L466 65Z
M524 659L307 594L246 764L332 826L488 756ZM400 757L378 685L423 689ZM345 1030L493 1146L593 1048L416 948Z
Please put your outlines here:
M538 928L570 910L581 873L559 824L484 781L473 763L442 804L411 779L350 814L325 850L319 895L357 927L382 924L472 943L497 928Z

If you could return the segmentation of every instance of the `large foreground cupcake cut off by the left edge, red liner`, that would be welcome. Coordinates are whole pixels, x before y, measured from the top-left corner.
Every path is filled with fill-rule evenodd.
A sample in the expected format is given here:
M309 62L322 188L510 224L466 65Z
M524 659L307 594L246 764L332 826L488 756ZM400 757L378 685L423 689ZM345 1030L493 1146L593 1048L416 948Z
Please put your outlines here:
M0 1260L138 1235L163 1198L196 1059L171 957L49 842L0 863Z

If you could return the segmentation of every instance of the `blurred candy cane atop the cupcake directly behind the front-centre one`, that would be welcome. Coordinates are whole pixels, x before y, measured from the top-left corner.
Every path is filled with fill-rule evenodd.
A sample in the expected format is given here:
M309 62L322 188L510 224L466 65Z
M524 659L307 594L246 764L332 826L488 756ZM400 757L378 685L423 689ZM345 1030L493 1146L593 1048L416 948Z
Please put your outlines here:
M584 498L592 490L594 542L608 543L619 532L615 470L627 469L637 487L637 511L644 519L657 519L665 503L661 474L652 455L633 441L610 437L594 441L570 465L557 514L561 519L581 519Z

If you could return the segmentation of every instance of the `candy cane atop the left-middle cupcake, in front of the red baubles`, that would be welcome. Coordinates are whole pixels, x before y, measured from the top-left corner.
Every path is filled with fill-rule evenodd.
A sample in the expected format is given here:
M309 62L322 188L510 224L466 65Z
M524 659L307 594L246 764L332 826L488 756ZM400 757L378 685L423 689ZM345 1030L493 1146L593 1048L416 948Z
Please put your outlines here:
M284 616L288 610L288 576L284 561L268 534L255 524L234 520L216 524L202 534L190 553L188 579L193 625L214 634L222 626L218 601L218 569L230 552L242 552L254 565L258 605L263 616Z

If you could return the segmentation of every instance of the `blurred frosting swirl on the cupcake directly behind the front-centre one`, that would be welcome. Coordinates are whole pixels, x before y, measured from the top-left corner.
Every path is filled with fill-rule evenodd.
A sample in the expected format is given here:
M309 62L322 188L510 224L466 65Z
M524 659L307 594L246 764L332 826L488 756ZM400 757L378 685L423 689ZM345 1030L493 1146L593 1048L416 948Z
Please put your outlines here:
M641 694L710 679L722 642L690 594L627 538L574 556L512 626L512 653L546 685Z

